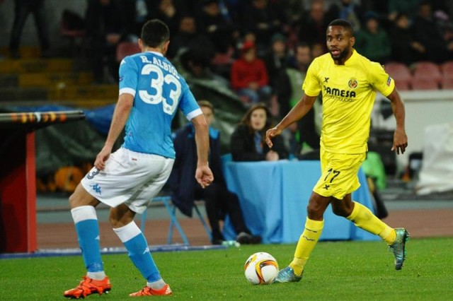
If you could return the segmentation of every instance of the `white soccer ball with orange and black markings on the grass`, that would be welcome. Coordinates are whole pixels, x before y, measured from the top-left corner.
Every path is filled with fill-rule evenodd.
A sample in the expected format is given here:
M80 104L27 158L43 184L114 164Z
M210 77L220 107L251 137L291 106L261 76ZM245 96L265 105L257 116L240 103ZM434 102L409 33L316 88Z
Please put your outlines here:
M266 252L258 252L248 257L243 265L246 279L252 284L273 283L278 274L277 260Z

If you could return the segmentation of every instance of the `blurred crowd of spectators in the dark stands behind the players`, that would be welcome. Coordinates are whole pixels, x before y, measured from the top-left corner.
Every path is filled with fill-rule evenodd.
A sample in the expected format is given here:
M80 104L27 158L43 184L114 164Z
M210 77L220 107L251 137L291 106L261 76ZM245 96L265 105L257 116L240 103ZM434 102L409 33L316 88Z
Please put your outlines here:
M44 5L16 0L13 58L32 13L42 53L49 55ZM326 52L326 27L336 18L352 23L355 48L372 61L452 61L452 11L447 0L87 0L85 15L65 11L62 26L67 35L84 37L95 81L105 83L117 79L119 45L136 43L146 20L164 20L171 30L169 59L184 54L190 68L222 76L251 105L288 93L279 88L292 85L287 69L304 72Z

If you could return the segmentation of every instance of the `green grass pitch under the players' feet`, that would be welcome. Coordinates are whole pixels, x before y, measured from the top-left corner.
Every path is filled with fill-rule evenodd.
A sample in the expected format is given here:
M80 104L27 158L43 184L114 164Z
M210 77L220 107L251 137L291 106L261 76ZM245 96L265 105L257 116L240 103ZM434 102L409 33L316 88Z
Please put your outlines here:
M251 285L242 266L254 252L275 256L280 268L294 245L243 246L153 254L178 300L453 300L453 238L412 239L401 271L384 242L320 242L299 283ZM145 281L126 254L103 256L112 282L107 295L128 300ZM62 300L84 275L81 256L0 259L1 300Z

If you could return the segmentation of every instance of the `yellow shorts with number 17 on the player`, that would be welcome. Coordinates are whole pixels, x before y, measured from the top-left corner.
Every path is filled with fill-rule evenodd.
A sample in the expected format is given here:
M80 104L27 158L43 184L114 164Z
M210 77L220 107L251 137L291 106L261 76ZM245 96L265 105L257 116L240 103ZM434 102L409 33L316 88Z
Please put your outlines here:
M328 153L321 148L321 177L313 191L321 196L343 199L360 187L357 173L366 153Z

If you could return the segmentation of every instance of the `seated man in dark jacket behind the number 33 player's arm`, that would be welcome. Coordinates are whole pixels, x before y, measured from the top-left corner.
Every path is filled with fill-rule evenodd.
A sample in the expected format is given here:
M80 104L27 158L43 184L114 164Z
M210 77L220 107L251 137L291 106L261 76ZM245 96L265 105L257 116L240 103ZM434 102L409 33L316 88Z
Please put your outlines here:
M206 100L198 102L205 114L207 124L214 119L214 107ZM176 151L176 160L168 179L173 203L186 216L192 216L195 199L205 201L207 218L212 230L212 244L222 244L224 237L220 230L219 220L229 215L231 224L236 233L236 241L241 244L258 244L261 237L251 235L243 221L241 206L236 194L226 188L222 172L220 156L220 134L217 129L210 127L210 156L209 163L214 175L214 182L210 187L202 189L193 177L197 164L197 149L195 148L195 132L191 124L183 126L173 134L173 144Z

